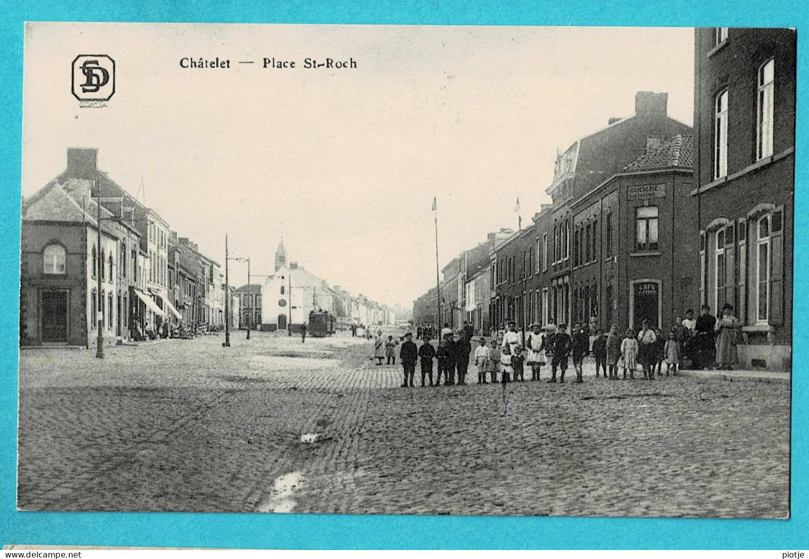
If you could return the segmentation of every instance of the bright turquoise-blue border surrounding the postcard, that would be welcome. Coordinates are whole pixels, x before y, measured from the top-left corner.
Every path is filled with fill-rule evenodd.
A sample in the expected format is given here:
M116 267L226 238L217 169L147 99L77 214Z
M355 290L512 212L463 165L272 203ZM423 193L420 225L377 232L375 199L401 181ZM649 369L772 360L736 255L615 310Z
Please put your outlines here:
M633 2L100 2L50 0L4 2L0 41L0 98L5 109L0 137L0 543L140 545L218 548L809 548L807 510L807 382L800 367L807 344L794 344L792 518L698 520L626 518L475 518L298 514L19 513L15 511L17 339L19 301L19 197L23 21L153 21L218 23L421 23L485 25L644 25L798 28L797 152L805 153L807 49L802 40L807 12L802 0L646 0ZM125 5L124 5L125 4ZM807 178L807 159L796 158L797 184ZM796 207L809 194L796 189ZM809 217L795 212L795 254L809 246ZM809 279L796 262L795 285ZM796 294L799 290L796 289ZM794 331L809 327L807 298L796 297Z

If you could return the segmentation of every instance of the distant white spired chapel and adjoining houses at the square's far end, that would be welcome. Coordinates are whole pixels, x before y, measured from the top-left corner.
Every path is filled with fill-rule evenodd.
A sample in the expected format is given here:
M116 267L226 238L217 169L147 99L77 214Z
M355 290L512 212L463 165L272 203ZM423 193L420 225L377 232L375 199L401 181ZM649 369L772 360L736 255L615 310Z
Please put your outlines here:
M396 322L396 313L387 305L362 294L354 296L339 285L330 286L298 262L288 261L283 239L275 251L273 274L260 277L259 284L235 290L242 328L249 324L262 331L300 331L313 310L327 311L337 328Z

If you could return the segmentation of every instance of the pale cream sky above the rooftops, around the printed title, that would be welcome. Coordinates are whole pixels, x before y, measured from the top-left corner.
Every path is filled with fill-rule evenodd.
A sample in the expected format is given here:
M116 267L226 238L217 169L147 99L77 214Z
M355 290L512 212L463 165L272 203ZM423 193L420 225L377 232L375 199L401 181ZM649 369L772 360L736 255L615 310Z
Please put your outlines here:
M70 92L77 54L116 62L104 108ZM230 59L183 69L181 58ZM305 58L356 69L305 69ZM264 68L264 58L295 61ZM254 61L238 64L238 61ZM23 184L67 147L224 262L288 258L354 294L412 306L441 266L549 203L557 149L668 92L693 123L693 29L28 23ZM231 284L247 282L231 263Z

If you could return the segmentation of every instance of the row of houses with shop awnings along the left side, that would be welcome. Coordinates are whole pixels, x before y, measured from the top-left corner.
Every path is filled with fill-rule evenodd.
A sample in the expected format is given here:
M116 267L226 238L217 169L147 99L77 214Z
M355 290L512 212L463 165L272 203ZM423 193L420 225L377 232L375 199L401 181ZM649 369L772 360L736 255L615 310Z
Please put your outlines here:
M21 250L23 346L225 323L220 264L100 171L95 148L68 148L66 169L23 199Z

